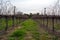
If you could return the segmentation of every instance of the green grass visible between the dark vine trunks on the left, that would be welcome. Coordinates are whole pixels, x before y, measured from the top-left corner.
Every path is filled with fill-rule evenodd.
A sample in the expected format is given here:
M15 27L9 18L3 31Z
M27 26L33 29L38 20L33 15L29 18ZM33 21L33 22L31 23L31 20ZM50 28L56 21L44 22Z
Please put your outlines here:
M21 21L21 20L20 20ZM18 19L14 20L14 24L18 23ZM13 21L11 18L8 19L8 27L12 27ZM4 30L6 27L6 19L5 18L0 18L0 30Z

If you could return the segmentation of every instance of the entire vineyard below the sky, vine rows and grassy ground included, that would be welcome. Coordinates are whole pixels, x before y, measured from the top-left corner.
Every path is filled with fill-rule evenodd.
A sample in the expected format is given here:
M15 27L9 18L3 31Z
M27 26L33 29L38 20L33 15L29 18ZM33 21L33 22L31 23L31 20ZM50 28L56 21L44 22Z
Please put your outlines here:
M0 40L60 40L60 17L56 17L1 16Z

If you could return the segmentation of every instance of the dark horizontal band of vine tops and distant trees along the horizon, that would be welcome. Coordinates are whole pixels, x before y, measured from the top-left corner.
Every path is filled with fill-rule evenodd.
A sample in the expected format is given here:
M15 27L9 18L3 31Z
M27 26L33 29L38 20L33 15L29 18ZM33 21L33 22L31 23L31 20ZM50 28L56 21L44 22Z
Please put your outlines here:
M36 18L36 19L40 19L40 18L60 18L60 16L57 16L57 15L40 15L39 13L37 14L15 14L15 15L0 15L0 18L1 17L8 17L8 18L11 18L11 17L16 17L16 18L23 18L23 19L28 19L28 18Z

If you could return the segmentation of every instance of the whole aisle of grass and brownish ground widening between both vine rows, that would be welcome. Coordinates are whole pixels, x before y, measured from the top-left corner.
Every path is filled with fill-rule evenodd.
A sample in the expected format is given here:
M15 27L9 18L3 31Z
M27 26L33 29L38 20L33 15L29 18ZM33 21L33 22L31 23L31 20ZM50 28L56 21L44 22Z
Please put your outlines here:
M28 19L21 23L21 28L15 30L8 40L57 40L57 37L39 27L36 21Z

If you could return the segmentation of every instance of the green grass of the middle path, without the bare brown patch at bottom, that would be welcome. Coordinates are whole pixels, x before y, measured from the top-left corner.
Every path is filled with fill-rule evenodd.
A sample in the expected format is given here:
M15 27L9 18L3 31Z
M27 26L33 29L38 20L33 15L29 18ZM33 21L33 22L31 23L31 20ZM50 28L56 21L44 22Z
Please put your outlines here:
M39 40L39 31L38 31L38 25L35 21L32 19L28 19L21 23L22 28L17 29L15 32L12 33L12 37L18 37L19 40L23 40L24 37L26 37L27 32L29 32L29 35L31 35L32 39ZM25 36L24 36L25 35ZM31 39L31 40L32 40Z

